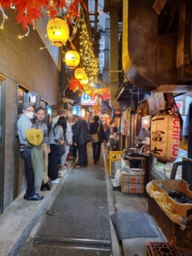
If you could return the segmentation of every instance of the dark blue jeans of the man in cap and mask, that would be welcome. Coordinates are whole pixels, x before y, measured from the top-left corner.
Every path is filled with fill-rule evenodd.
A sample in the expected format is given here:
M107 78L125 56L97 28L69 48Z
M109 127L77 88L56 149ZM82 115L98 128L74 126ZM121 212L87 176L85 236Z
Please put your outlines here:
M20 156L25 161L25 175L27 179L27 190L26 193L28 196L34 196L36 194L34 186L34 173L31 161L31 148L30 147L21 147Z

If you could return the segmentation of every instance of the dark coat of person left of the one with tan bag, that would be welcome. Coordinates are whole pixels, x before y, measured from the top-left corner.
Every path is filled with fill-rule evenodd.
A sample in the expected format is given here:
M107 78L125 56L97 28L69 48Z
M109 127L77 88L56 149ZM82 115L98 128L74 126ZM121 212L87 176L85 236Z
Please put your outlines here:
M74 143L77 143L77 146L80 146L90 141L90 134L85 120L79 119L76 124Z

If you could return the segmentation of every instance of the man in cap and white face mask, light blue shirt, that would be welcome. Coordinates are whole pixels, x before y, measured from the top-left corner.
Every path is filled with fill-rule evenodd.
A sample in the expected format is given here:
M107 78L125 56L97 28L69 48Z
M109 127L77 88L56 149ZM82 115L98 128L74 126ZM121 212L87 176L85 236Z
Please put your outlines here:
M32 104L24 103L22 106L22 115L17 121L17 134L19 136L20 156L25 161L25 175L27 179L27 190L24 199L37 201L42 200L44 196L39 196L35 190L34 173L31 162L31 147L25 135L25 130L32 128L31 119L33 119L33 117L34 108Z

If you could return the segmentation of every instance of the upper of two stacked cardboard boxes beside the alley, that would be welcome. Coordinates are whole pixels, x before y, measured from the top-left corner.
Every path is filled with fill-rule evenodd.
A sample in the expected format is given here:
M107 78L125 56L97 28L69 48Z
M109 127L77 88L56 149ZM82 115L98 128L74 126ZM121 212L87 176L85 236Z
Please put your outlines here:
M121 171L121 183L144 184L143 169L129 169Z

